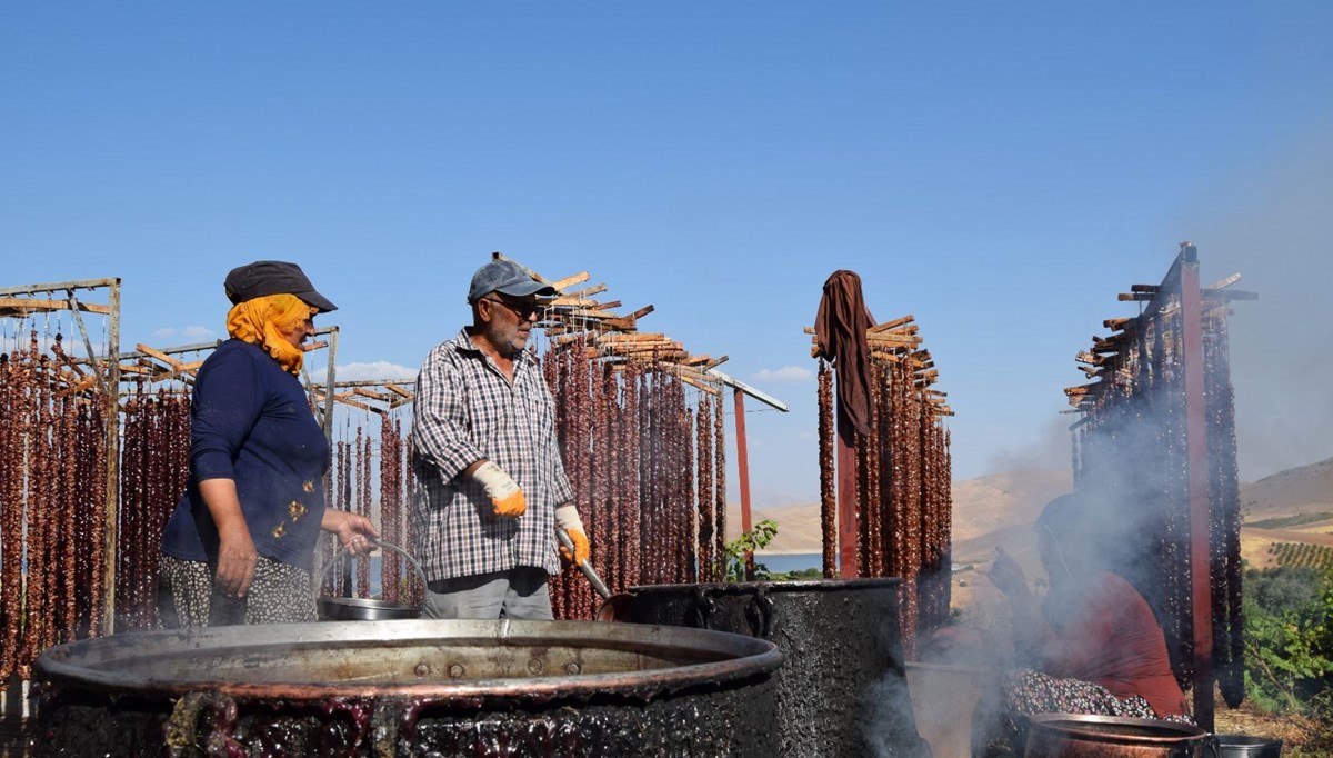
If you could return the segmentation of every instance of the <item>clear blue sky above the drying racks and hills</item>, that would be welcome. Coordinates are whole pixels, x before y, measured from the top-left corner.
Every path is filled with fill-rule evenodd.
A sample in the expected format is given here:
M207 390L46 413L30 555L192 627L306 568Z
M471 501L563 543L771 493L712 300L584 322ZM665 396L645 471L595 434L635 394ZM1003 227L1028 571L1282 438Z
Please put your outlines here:
M1066 464L1074 354L1189 239L1264 298L1233 318L1253 479L1333 455L1330 33L1300 1L0 0L0 286L120 276L128 350L296 260L349 376L415 371L493 250L587 270L790 403L749 416L780 503L818 488L832 271L917 316L968 478Z

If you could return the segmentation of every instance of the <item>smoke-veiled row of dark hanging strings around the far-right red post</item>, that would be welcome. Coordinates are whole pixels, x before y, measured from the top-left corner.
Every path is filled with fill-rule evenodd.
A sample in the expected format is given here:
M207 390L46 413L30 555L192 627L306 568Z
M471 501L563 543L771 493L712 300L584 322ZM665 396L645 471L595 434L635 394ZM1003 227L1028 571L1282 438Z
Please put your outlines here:
M1245 661L1226 308L1205 302L1201 327L1213 535L1213 665L1222 698L1236 707L1245 695ZM1188 689L1194 677L1194 630L1182 310L1144 310L1132 332L1117 352L1101 351L1106 388L1080 407L1084 418L1073 427L1074 490L1085 502L1117 508L1109 520L1124 534L1108 540L1117 547L1109 551L1108 567L1130 581L1152 605L1166 635L1172 669Z

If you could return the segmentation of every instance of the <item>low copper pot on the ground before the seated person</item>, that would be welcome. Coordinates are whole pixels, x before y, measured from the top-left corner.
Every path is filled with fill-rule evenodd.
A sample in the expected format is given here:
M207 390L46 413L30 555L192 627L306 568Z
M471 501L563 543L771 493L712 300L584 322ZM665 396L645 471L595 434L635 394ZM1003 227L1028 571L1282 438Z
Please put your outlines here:
M1029 717L1026 758L1201 758L1197 726L1150 718L1048 713Z

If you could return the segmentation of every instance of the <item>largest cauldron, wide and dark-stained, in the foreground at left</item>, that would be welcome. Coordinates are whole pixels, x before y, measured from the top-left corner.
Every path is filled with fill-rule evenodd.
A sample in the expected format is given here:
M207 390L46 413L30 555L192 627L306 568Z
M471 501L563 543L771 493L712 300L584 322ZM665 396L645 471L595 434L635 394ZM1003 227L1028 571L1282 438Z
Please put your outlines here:
M753 755L782 654L595 622L119 634L39 657L39 755Z

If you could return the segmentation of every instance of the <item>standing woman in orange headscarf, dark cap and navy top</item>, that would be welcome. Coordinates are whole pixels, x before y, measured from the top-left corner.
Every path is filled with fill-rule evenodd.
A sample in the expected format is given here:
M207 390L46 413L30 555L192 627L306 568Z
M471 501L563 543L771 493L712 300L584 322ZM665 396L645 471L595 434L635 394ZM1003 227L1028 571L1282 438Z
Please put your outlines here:
M191 404L189 487L163 536L159 611L168 627L315 621L320 530L363 554L365 516L325 508L329 446L297 375L315 314L336 306L295 263L227 275L227 334Z

